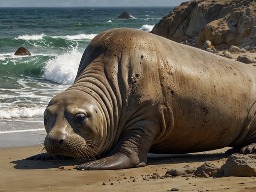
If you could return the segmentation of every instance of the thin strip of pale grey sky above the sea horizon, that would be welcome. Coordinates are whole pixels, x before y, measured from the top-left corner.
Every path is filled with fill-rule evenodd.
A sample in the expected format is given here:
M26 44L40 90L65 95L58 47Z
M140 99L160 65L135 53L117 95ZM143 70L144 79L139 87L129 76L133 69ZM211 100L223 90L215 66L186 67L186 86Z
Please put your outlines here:
M172 7L187 0L0 0L0 7Z

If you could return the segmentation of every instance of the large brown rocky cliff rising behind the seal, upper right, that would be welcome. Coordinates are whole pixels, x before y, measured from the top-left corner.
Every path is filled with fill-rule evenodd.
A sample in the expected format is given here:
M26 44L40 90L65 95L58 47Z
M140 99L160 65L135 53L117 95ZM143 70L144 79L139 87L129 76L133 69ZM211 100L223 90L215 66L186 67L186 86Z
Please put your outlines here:
M177 42L219 48L256 46L255 0L193 0L183 2L163 17L154 34Z

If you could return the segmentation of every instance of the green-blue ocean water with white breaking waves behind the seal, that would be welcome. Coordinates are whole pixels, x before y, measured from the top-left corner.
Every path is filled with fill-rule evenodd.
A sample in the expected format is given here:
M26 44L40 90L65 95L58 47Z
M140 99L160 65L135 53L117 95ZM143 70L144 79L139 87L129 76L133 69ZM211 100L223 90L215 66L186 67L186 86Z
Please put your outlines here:
M34 129L13 122L42 123L48 102L73 83L97 34L119 27L150 31L173 8L0 8L0 133ZM133 18L117 19L123 11ZM32 55L15 56L19 47Z

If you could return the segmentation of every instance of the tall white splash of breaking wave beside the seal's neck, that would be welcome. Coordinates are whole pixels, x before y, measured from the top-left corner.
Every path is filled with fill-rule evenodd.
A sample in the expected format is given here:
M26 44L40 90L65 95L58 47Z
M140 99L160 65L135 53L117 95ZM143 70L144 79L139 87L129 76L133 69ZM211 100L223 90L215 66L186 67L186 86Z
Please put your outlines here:
M50 59L43 69L43 78L59 84L71 85L75 80L82 53L76 48Z

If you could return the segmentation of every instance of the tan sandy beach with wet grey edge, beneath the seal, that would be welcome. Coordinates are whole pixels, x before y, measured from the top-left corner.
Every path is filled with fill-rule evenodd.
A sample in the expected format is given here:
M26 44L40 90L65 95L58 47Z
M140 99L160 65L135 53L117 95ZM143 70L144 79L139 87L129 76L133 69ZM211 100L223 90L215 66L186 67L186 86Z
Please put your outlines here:
M45 131L0 134L0 191L255 191L255 177L150 178L153 173L165 175L175 167L199 167L211 162L217 167L224 164L229 148L202 153L181 155L148 155L146 167L78 171L78 160L29 161L27 157L38 154ZM9 146L8 146L9 144Z

